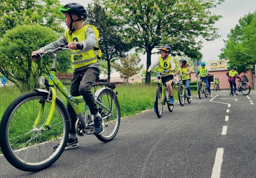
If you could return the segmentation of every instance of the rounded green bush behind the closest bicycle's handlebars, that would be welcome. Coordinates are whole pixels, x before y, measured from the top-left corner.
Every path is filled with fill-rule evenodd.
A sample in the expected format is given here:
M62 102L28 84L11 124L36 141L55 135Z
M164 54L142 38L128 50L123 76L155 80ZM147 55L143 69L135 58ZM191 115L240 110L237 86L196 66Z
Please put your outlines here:
M38 77L47 74L46 68L51 69L52 64L50 56L33 62L32 51L59 37L51 28L39 24L16 26L6 32L0 41L0 72L20 89L32 89L37 84ZM67 52L58 53L56 68L60 72L70 68Z

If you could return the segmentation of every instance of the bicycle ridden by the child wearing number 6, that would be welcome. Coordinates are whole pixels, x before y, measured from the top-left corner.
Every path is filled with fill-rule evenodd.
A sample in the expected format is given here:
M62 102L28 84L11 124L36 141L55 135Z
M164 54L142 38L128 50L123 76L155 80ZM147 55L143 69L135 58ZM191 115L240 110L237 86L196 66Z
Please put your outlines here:
M166 70L163 73L169 73L169 72L171 72L171 71ZM151 73L156 73L156 81L158 84L158 88L157 88L156 94L155 94L155 102L154 102L154 105L156 108L156 115L157 115L157 117L162 117L163 105L167 104L168 110L170 112L172 112L172 110L173 110L173 105L168 104L169 93L167 90L167 86L161 80L163 73L158 73L155 71L151 71Z

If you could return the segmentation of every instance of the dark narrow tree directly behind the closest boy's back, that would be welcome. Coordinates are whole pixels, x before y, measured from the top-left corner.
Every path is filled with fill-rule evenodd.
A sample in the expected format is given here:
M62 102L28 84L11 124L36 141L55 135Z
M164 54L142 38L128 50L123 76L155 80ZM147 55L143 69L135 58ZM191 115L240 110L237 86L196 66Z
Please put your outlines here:
M110 82L110 62L125 57L125 53L131 49L129 44L121 38L116 28L115 21L107 16L107 9L98 0L88 5L89 24L96 26L100 32L99 47L102 50L102 59L107 61L107 81Z

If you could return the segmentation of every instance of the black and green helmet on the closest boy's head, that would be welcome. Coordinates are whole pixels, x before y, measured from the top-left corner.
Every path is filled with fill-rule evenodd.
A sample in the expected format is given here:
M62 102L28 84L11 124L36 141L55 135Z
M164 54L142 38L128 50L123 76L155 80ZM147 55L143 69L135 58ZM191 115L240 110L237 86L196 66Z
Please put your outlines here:
M62 6L61 8L59 8L59 12L69 13L69 16L71 19L71 22L69 24L69 33L70 34L74 31L74 29L72 28L73 21L86 20L87 16L88 16L88 13L87 13L85 7L78 3L68 3L68 4ZM77 15L78 19L73 20L71 15Z

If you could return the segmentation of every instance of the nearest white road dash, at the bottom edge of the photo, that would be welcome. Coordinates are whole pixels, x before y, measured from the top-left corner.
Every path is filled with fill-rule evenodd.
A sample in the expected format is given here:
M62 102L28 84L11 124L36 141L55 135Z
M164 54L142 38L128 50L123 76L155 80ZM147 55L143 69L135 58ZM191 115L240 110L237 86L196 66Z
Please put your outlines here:
M223 148L218 148L215 156L215 162L212 168L211 178L220 178L221 165L223 162Z

